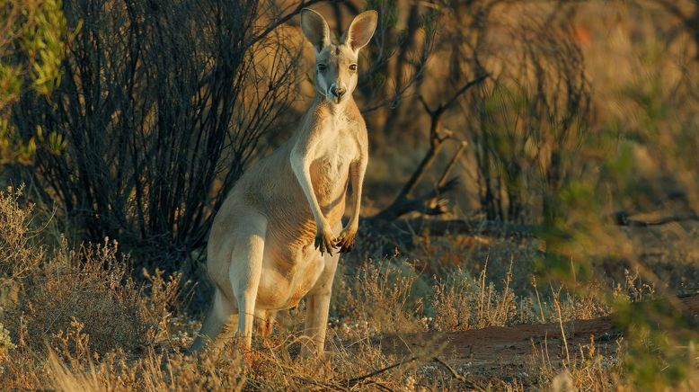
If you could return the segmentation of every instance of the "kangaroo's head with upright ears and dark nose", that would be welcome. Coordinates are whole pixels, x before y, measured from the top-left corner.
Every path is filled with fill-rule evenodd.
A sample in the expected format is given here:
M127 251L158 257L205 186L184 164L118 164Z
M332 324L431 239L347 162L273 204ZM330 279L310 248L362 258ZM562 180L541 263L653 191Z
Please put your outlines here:
M328 102L340 103L357 87L357 59L376 30L378 13L359 13L340 43L332 43L330 29L320 13L305 8L301 30L315 49L315 89Z

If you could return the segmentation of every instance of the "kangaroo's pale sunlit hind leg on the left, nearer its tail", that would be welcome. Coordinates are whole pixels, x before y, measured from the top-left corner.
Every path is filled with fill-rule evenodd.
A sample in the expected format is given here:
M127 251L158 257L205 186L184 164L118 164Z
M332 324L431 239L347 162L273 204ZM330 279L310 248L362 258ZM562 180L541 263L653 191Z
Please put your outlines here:
M255 317L255 301L260 286L267 218L256 211L240 217L234 232L234 245L228 279L238 307L237 334L245 348L252 345L252 324Z

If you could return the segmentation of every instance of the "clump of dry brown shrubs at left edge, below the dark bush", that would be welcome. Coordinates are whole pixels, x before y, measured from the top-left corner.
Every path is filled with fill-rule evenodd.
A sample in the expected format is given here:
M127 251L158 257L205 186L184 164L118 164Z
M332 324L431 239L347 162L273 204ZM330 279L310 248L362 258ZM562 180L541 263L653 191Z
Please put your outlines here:
M133 352L162 338L180 275L146 273L146 284L138 285L129 275L128 257L106 238L77 249L64 239L47 255L40 232L31 228L32 206L22 206L21 194L21 189L0 192L0 322L12 338L43 352L46 342L64 339L75 323L89 336L90 349L100 353Z

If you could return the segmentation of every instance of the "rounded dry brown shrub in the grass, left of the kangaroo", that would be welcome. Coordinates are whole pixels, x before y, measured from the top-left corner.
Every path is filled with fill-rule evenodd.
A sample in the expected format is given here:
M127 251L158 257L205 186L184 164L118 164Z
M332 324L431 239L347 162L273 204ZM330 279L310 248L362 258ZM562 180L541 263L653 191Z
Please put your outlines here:
M69 250L66 243L32 275L17 309L28 316L33 343L38 337L60 335L77 320L97 352L117 347L131 352L146 344L149 328L140 310L136 283L128 277L126 260L116 242L81 245ZM40 349L40 347L34 347Z

